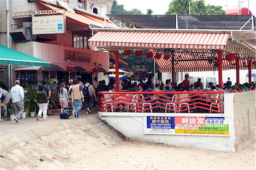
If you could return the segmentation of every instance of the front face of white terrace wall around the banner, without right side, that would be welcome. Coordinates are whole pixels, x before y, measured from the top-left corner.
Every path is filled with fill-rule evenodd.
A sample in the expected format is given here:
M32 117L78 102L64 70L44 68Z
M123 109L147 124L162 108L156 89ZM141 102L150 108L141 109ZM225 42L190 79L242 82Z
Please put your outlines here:
M131 115L132 114L132 115ZM101 115L101 114L100 114ZM102 113L104 115L104 113ZM170 144L178 147L193 147L205 150L216 150L235 152L234 149L234 127L229 126L229 136L194 136L194 135L160 135L144 134L143 116L185 116L204 117L205 114L171 114L171 113L120 113L112 116L103 116L101 119L106 121L110 126L121 132L131 139L149 141L155 143ZM220 114L208 114L209 116L220 116ZM231 121L231 120L230 120Z

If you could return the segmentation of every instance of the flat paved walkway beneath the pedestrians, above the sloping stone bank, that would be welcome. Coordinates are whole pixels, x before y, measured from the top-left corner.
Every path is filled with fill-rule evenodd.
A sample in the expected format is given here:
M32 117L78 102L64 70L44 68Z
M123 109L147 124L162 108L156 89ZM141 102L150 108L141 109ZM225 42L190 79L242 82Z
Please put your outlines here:
M81 110L80 114L81 114L81 119L98 116L97 111L93 111L91 114L86 114L85 109ZM59 113L53 113L48 116L46 121L43 121L43 118L41 118L39 121L36 121L36 117L20 119L19 124L16 124L15 121L0 121L0 136L5 136L13 132L28 130L30 128L36 128L38 126L45 126L45 125L51 125L57 122L69 121L71 119L77 119L77 118L71 115L71 117L69 117L68 119L60 119Z

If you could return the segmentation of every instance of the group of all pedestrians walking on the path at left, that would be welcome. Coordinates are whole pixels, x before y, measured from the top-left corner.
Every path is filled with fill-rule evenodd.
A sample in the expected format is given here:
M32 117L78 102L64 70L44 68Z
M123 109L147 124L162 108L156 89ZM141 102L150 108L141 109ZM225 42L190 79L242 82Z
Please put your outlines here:
M39 85L37 93L37 101L39 106L38 114L36 115L36 120L39 121L40 117L43 115L43 120L47 118L47 109L49 106L49 98L51 98L52 89L49 88L46 81L43 81L42 85ZM87 79L85 84L82 81L79 81L77 78L69 80L68 85L63 80L60 85L57 87L57 94L59 97L59 103L61 110L63 111L65 107L73 107L73 115L76 118L80 118L79 111L82 109L83 103L85 103L86 113L89 114L92 111L94 104L94 99L96 99L96 89L90 80ZM20 118L24 112L24 89L20 86L20 81L15 80L15 85L11 88L10 93L0 88L0 97L4 97L5 106L3 106L5 112L4 115L7 116L7 103L10 99L12 105L14 106L15 117L14 120L16 123L20 123Z

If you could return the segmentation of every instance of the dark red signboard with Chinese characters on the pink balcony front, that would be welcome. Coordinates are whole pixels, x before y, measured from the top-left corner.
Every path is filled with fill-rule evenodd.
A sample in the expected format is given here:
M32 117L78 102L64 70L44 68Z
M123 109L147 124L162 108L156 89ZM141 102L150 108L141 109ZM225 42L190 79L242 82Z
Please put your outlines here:
M77 52L71 50L64 50L64 59L65 61L77 61L77 62L84 62L84 63L91 63L92 57L90 53L85 52Z

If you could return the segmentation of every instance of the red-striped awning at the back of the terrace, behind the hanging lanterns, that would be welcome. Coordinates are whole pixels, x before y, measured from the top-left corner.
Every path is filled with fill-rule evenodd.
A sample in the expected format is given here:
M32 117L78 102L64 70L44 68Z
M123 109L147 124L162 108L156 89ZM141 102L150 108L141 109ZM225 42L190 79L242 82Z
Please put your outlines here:
M155 53L154 58L155 58ZM242 58L242 56L240 55ZM209 50L190 50L186 52L175 52L174 57L174 69L175 72L200 72L200 71L217 71L217 53L212 53ZM172 63L171 58L168 60L163 59L163 56L160 59L155 59L156 64L160 68L160 72L172 72ZM240 59L240 69L248 69L248 59ZM235 61L229 62L223 56L222 58L222 69L236 69ZM253 65L252 69L256 69L256 66Z

